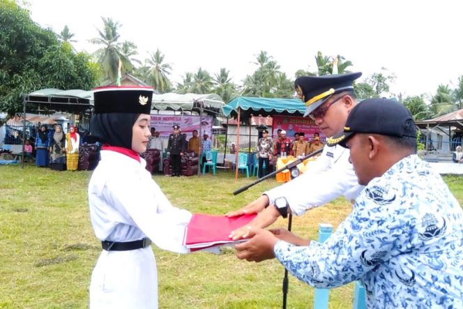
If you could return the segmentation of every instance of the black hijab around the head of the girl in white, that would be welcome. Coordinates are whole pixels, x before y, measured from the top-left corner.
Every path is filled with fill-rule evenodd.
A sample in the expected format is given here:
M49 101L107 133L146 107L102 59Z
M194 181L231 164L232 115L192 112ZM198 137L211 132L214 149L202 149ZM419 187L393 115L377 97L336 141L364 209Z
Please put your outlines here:
M138 116L132 113L95 114L90 123L91 136L102 144L132 149L132 127Z

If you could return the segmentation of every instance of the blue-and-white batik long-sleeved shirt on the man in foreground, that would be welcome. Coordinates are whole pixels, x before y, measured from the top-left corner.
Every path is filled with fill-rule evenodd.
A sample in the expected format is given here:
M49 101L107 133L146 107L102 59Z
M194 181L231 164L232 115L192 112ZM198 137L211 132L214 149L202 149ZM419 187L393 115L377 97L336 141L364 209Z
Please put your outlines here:
M360 280L368 308L463 308L463 211L416 155L370 181L325 243L274 250L314 287Z

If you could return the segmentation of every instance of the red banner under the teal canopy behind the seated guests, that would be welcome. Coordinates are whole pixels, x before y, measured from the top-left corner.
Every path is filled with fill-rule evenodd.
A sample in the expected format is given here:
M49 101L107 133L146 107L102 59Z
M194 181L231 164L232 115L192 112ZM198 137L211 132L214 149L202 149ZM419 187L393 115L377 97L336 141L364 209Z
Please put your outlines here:
M325 136L321 133L318 126L310 117L295 117L295 116L272 116L273 119L273 132L272 137L277 137L277 130L282 129L286 131L286 137L289 140L294 139L294 133L303 132L306 141L314 140L314 133L320 133L320 139L325 140Z

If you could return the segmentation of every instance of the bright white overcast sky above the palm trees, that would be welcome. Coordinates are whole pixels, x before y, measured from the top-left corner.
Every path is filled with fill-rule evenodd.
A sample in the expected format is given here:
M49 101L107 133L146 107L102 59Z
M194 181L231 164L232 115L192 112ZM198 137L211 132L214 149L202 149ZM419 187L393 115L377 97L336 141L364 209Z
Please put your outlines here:
M32 20L75 33L78 51L103 28L119 22L121 41L135 43L139 59L156 49L172 65L173 82L185 72L225 67L236 84L257 68L261 50L294 79L315 71L315 56L340 54L364 77L387 68L393 93L432 96L439 84L455 88L463 75L462 1L293 0L27 0Z

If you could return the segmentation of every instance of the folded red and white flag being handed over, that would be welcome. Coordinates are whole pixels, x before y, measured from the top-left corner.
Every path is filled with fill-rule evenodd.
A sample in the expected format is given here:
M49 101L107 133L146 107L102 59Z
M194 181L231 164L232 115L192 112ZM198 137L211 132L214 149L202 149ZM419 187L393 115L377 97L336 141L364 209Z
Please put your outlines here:
M183 245L191 251L197 251L246 241L234 241L229 235L234 229L250 223L256 216L253 213L229 218L194 213L190 223L185 227Z

